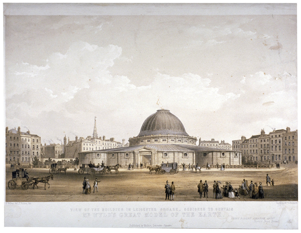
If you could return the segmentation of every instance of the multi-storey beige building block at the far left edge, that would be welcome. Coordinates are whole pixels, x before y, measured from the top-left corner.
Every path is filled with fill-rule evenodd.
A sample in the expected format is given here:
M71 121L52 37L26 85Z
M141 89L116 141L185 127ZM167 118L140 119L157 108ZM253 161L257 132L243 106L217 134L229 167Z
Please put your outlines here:
M8 130L5 128L5 162L29 164L37 157L41 158L41 137L21 132L20 127Z

